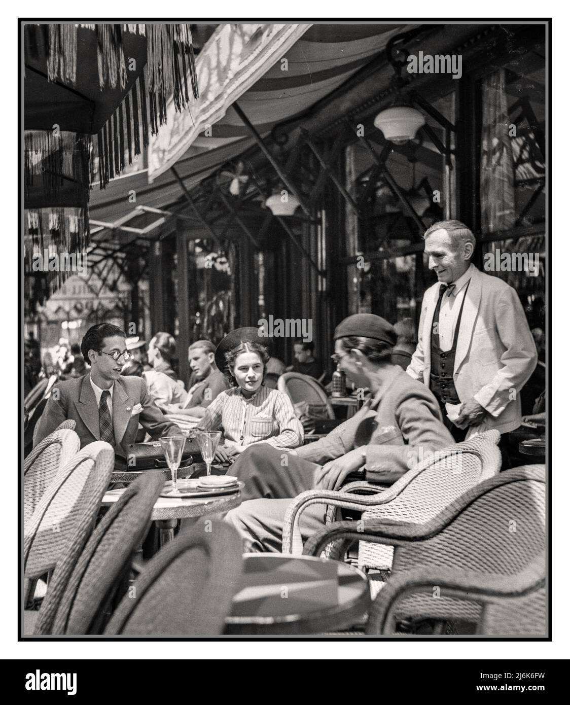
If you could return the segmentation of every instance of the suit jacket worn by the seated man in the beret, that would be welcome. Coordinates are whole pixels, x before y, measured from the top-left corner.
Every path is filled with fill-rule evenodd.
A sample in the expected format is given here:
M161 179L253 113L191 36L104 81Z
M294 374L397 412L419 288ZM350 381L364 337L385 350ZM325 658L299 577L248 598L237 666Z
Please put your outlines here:
M395 366L376 396L351 419L320 441L297 448L297 455L324 465L366 446L366 478L395 482L428 453L453 443L433 394Z

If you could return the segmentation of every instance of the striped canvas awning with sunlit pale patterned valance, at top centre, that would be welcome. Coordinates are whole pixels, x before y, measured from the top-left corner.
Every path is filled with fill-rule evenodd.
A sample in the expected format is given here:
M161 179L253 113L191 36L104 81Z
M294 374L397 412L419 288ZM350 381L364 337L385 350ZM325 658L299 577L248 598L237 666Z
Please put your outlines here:
M237 99L256 130L267 135L345 82L399 27L221 25L196 61L198 101L182 113L170 104L167 125L150 142L149 183L180 159L249 137L230 108Z

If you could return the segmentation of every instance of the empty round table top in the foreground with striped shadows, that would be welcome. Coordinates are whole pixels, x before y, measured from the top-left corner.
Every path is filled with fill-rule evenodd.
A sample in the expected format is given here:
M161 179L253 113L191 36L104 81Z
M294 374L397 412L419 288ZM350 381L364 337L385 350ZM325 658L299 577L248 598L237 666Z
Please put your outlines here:
M314 556L248 553L226 634L319 634L352 626L370 605L368 578Z

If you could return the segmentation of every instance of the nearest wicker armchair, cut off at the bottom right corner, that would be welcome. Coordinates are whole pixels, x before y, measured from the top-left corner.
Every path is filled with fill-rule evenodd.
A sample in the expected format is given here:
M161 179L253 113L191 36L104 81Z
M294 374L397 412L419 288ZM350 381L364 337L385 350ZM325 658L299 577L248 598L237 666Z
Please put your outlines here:
M472 603L478 609L476 634L493 637L544 637L547 634L545 553L514 575L471 570L423 568L393 577L376 598L368 616L367 634L397 633L397 615L411 596L434 592L450 601Z

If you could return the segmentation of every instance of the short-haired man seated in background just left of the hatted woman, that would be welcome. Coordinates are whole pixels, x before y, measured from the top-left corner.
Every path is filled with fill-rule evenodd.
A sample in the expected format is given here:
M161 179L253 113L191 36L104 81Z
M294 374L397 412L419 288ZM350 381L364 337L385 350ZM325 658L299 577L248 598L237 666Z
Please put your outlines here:
M218 394L230 388L228 379L216 367L214 353L216 345L211 341L196 341L190 345L188 364L197 382L188 390L185 402L173 402L168 413L202 419Z

